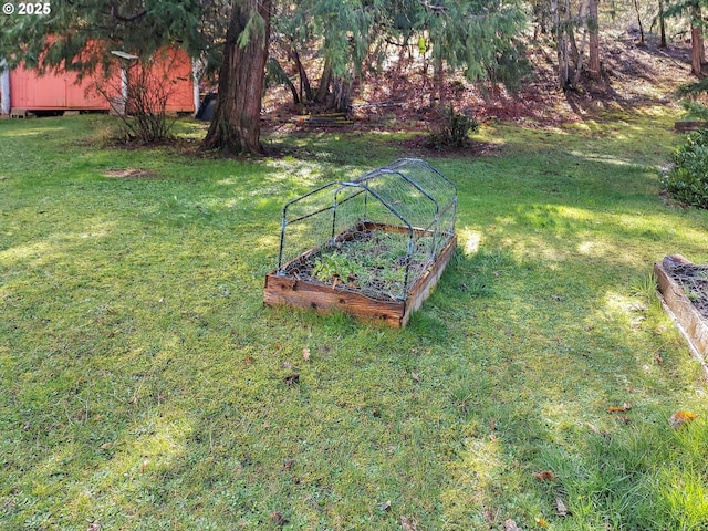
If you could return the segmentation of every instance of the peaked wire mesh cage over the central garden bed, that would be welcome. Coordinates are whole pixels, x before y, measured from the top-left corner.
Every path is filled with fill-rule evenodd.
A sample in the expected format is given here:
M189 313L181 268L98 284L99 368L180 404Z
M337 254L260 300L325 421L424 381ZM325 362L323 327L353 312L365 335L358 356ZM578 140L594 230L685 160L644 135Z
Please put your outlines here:
M405 303L431 271L435 281L441 274L436 266L456 241L456 210L455 184L420 159L329 183L284 206L274 275Z

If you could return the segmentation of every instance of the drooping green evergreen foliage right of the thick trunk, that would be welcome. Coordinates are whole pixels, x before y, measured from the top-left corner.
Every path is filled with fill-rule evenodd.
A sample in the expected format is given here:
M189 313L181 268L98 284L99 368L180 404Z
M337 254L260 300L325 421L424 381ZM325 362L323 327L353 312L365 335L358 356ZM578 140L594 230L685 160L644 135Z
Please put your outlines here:
M410 42L429 50L437 85L447 66L470 81L516 88L527 66L520 40L527 18L517 0L301 0L283 9L275 29L281 40L295 50L316 49L324 59L313 92L320 102L333 93L341 103L337 88L346 88L367 61L377 63L391 43L402 53Z

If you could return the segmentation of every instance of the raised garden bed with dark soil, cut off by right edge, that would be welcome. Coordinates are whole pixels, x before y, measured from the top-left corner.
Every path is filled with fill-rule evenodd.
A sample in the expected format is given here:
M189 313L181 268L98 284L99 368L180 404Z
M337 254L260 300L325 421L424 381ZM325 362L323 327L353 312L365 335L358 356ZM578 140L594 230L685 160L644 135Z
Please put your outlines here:
M708 266L674 254L654 264L664 308L708 378Z

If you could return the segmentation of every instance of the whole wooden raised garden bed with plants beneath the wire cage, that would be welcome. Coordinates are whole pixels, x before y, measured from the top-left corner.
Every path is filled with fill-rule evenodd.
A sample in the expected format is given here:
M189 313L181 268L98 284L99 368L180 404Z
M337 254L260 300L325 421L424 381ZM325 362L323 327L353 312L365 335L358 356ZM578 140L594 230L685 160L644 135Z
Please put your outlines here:
M403 327L429 296L457 246L454 236L437 259L429 260L426 236L418 235L406 271L407 229L361 223L339 235L333 246L310 250L281 272L269 273L263 301L321 313L339 310ZM418 279L408 290L406 274Z

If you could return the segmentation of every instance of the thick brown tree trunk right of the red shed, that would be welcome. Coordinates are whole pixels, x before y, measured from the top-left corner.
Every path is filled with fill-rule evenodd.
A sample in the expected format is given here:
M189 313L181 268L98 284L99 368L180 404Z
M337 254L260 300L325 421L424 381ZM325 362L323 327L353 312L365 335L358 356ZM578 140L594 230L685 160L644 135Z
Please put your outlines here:
M262 24L256 22L259 18ZM219 71L216 112L202 149L219 149L225 155L263 152L260 118L270 18L271 0L233 2ZM248 42L240 43L247 25L250 25Z

